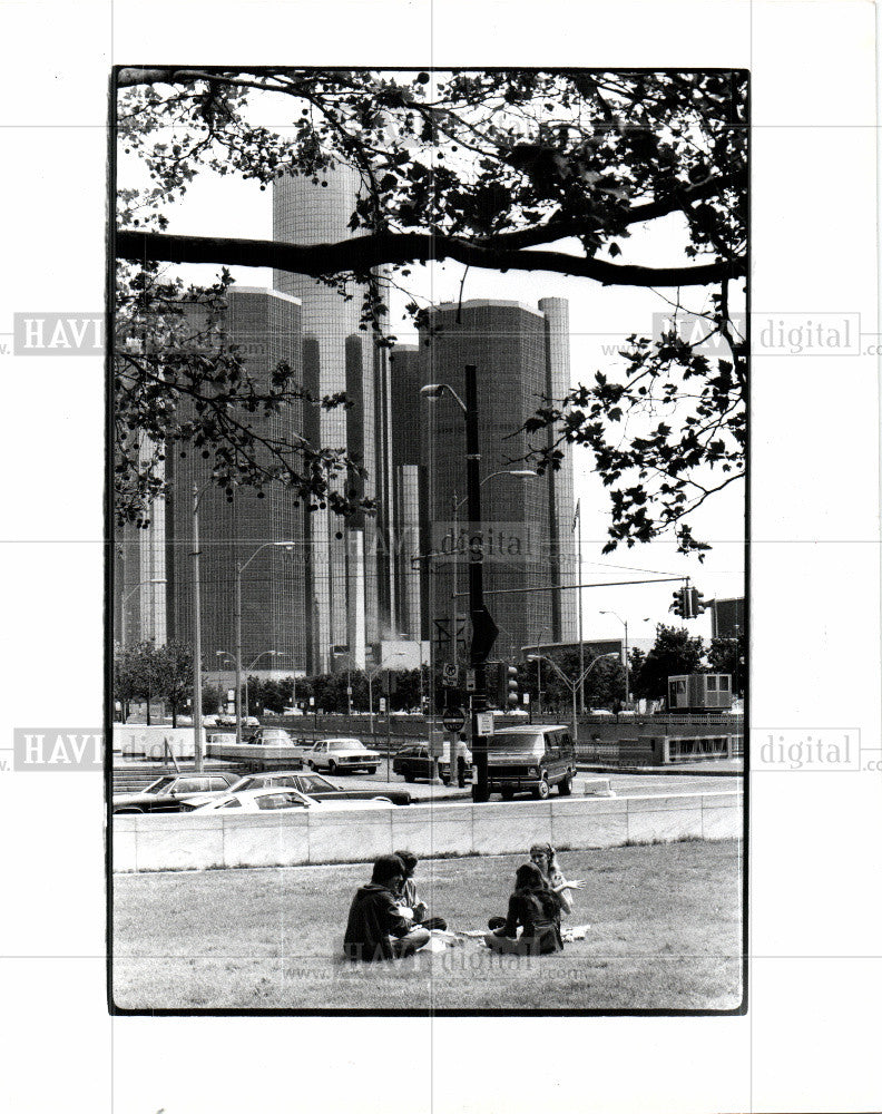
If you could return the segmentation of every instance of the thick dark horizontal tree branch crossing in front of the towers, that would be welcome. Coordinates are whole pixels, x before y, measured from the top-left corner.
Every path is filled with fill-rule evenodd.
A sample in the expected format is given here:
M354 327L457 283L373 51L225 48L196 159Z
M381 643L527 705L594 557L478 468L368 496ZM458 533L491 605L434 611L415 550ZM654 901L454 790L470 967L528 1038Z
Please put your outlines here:
M455 236L420 232L383 232L353 236L334 244L284 244L273 240L216 236L171 236L121 229L116 234L118 258L145 263L218 263L226 266L274 267L321 277L366 274L383 264L455 260L493 271L549 271L594 278L605 286L704 286L744 274L745 263L709 263L686 267L617 265L564 252L528 252L477 244Z

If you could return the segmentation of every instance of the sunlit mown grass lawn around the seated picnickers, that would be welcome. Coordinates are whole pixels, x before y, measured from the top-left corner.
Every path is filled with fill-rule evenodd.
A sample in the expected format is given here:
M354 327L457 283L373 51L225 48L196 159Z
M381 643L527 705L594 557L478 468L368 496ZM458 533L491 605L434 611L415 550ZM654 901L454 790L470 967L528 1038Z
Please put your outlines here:
M560 854L582 878L560 955L440 955L351 966L340 955L366 864L117 874L114 998L122 1008L731 1009L741 1001L735 840ZM424 860L423 900L453 929L504 913L525 856Z

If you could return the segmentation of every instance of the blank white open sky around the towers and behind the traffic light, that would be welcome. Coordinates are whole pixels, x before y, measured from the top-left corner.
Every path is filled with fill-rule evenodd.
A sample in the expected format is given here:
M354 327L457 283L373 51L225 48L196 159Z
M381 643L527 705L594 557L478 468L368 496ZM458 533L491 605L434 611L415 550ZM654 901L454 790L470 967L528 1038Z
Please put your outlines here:
M275 115L275 114L274 114ZM278 124L278 119L274 119ZM134 156L122 155L118 168L119 184L133 185L145 179ZM238 176L204 173L189 185L184 199L165 211L169 233L268 240L273 233L272 193L262 190L256 182ZM629 263L647 266L688 263L683 254L685 236L676 215L636 226L629 240L623 242L624 257ZM567 251L566 243L553 245ZM578 248L578 245L576 245ZM175 273L187 281L205 283L219 268L212 265L179 266ZM272 287L268 268L231 267L234 280L248 286ZM540 297L566 297L570 310L570 367L574 385L588 382L598 370L610 370L621 361L615 352L631 333L650 334L654 314L668 310L672 290L653 291L643 287L604 287L586 278L551 273L526 273L470 268L465 275L458 263L412 267L409 286L420 304L457 301L462 286L463 300L506 299L535 306ZM703 309L706 291L696 287L683 293L689 309ZM390 305L390 328L401 343L416 340L412 322L404 314L404 295L393 292ZM591 453L574 448L575 498L581 504L582 584L597 585L582 590L582 625L585 637L621 637L628 623L633 645L649 646L657 623L678 623L669 612L675 583L604 587L609 582L644 577L688 576L705 598L729 598L744 595L744 482L737 481L708 500L692 518L696 537L712 545L702 563L697 557L677 554L672 539L619 546L604 555L609 524L608 495L592 469ZM602 615L601 612L615 613ZM618 616L618 617L616 617ZM690 634L710 637L709 612L688 623Z

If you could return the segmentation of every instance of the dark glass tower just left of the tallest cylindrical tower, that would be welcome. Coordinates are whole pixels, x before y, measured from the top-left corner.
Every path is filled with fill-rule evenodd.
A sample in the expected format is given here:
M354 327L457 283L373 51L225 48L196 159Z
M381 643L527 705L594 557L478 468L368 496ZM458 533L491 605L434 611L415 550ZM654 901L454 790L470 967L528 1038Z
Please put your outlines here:
M266 385L285 361L295 381L303 375L301 306L276 291L234 286L227 292L224 328L239 348L248 374ZM197 311L198 312L198 311ZM255 413L249 423L259 437L288 442L304 436L304 407L287 404L271 416ZM258 450L259 451L259 450ZM242 665L281 675L312 672L307 589L310 550L306 511L294 492L280 483L263 498L237 488L232 501L210 482L210 459L190 447L167 455L166 573L169 635L194 641L194 497L198 495L200 632L208 672L229 671L236 654L235 599L242 573ZM245 567L247 566L247 567ZM313 580L314 583L314 580Z

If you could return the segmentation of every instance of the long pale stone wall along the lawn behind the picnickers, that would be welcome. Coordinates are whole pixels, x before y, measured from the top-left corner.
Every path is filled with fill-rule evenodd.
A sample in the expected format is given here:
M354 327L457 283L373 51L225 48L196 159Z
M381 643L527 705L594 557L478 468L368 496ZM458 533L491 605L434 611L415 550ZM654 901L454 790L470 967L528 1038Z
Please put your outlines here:
M115 815L114 869L199 870L364 862L408 847L422 858L503 854L550 841L572 850L634 840L739 837L739 792L411 804L357 813Z

